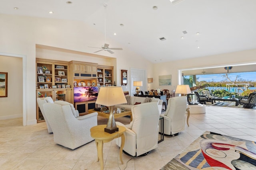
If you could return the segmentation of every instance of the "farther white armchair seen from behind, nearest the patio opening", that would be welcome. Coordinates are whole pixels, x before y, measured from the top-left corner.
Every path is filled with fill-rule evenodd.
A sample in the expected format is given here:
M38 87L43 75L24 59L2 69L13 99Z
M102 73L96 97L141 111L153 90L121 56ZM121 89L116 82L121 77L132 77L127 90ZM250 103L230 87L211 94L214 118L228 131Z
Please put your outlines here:
M164 117L165 135L175 135L185 129L186 108L186 96L169 98L166 112L160 115Z

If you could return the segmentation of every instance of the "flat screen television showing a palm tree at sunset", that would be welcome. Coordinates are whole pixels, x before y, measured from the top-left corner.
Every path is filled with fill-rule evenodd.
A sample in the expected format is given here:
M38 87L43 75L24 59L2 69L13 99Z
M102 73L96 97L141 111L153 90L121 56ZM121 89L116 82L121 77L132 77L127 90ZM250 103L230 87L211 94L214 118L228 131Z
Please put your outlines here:
M88 102L97 100L98 87L96 86L83 86L74 87L74 103L76 102Z

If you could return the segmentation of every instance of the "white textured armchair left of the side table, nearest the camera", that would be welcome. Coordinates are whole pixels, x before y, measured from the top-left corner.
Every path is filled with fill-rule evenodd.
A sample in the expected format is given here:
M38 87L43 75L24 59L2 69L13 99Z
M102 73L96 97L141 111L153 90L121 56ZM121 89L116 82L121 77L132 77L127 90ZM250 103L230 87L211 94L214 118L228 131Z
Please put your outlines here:
M70 149L76 149L94 139L91 127L97 125L97 112L84 115L78 120L69 105L44 104L44 113L53 131L54 142Z

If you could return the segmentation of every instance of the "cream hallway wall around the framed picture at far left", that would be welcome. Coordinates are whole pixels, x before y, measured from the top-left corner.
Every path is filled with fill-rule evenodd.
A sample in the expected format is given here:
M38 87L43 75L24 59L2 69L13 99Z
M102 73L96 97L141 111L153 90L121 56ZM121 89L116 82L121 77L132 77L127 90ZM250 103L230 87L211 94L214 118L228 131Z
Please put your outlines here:
M8 72L8 94L0 98L0 119L22 117L22 58L0 56L0 72Z

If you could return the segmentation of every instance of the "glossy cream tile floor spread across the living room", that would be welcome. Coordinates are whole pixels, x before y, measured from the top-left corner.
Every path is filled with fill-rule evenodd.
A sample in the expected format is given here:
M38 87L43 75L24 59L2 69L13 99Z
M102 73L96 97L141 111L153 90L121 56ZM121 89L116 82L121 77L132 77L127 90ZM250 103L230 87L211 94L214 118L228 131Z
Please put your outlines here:
M98 117L98 124L106 121ZM128 117L116 121L130 122ZM124 170L126 164L126 170L158 170L204 131L256 141L256 110L252 109L207 106L206 114L190 115L189 125L178 136L165 136L147 156L123 154L124 164L118 162L114 141L104 144L104 170ZM96 157L94 141L75 150L55 144L45 122L22 126L22 118L0 121L1 170L99 170Z

